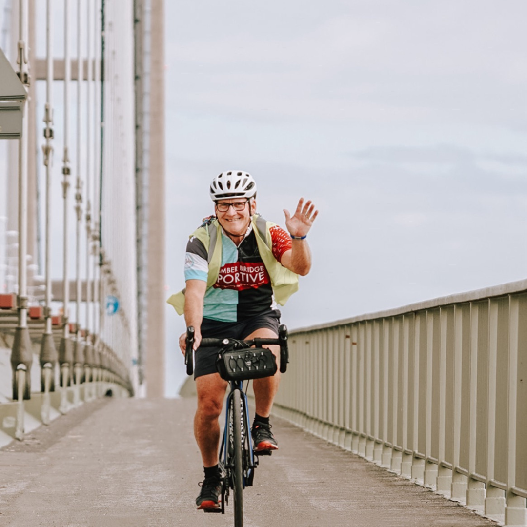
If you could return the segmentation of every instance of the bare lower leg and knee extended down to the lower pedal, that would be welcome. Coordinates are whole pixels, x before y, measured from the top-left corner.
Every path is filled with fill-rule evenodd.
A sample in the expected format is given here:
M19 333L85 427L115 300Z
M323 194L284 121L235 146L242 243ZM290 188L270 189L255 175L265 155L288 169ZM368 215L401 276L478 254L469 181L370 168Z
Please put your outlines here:
M196 379L198 409L194 416L194 436L198 443L204 467L218 464L220 423L218 418L223 407L227 381L218 373Z

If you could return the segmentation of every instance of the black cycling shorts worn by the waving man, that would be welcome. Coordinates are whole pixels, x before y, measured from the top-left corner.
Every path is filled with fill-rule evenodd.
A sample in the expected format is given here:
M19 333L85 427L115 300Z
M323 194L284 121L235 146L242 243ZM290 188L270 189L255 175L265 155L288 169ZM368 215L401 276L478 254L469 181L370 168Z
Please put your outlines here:
M242 320L240 322L220 322L203 318L201 323L202 338L236 338L243 340L253 331L261 328L272 329L278 336L278 326L280 325L280 311L278 309L269 309L254 317ZM216 369L216 357L218 356L219 347L198 348L194 354L194 379L201 375L218 373Z

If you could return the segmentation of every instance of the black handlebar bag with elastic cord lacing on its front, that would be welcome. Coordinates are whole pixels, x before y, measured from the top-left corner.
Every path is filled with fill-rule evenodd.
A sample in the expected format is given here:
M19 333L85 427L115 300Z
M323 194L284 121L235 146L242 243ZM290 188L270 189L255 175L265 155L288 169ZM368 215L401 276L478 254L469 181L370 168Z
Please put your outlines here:
M271 377L278 369L276 357L268 348L221 350L216 359L216 368L225 380Z

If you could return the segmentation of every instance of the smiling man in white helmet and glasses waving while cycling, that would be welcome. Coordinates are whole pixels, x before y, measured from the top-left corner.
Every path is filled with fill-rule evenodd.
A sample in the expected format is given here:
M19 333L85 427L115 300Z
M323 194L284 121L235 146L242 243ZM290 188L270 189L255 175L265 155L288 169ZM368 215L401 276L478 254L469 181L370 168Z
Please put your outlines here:
M280 311L275 302L284 305L298 289L298 275L310 270L306 236L318 214L311 201L300 198L293 216L284 210L289 232L264 220L256 213L256 182L243 171L219 174L211 182L210 196L214 216L203 220L187 244L186 289L168 300L195 330L194 435L205 473L198 509L220 506L219 415L228 385L216 370L218 349L199 349L201 338L277 338ZM183 334L179 339L183 354L185 338ZM271 349L278 363L279 347ZM278 370L275 376L253 381L256 415L251 436L256 452L278 448L269 415L279 380Z

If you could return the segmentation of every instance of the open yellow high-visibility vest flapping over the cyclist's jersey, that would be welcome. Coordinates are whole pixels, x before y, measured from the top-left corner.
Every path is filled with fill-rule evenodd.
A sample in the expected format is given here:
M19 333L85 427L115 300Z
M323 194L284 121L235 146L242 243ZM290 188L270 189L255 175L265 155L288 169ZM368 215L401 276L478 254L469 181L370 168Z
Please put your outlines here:
M265 268L271 278L272 293L280 306L284 306L289 297L298 291L298 275L286 269L272 254L271 227L276 223L264 220L259 214L253 214L252 228L255 231L258 251ZM207 290L218 280L221 268L221 226L217 219L212 220L210 225L199 227L189 238L195 236L203 243L208 253L209 274L207 278ZM172 295L167 303L174 306L178 315L182 315L185 308L185 290Z

